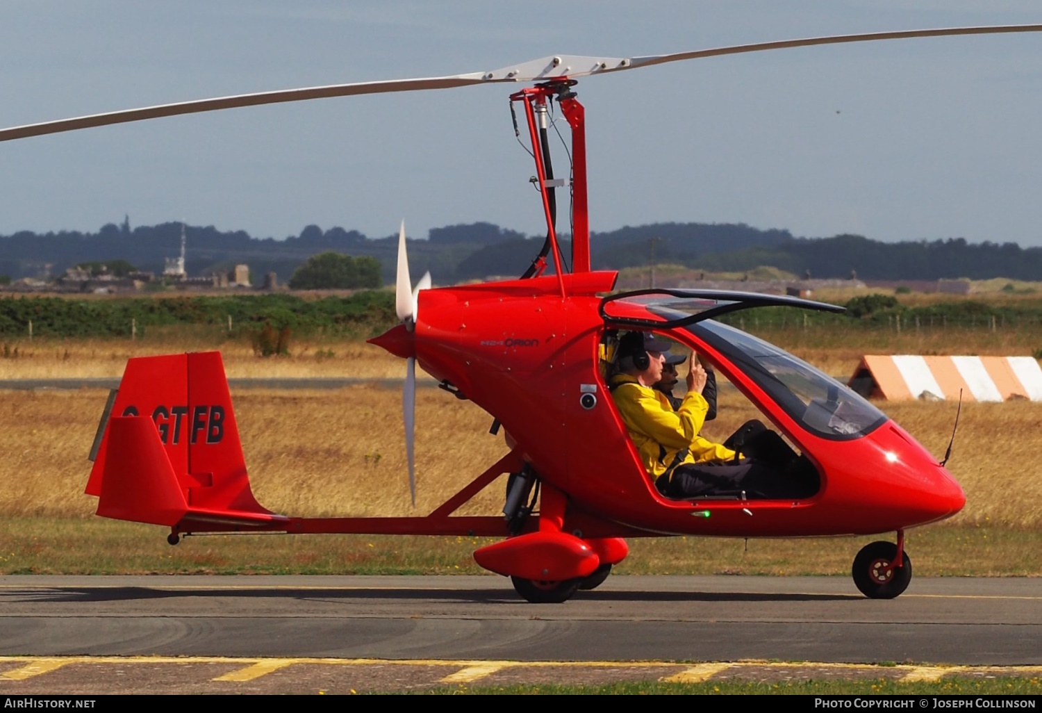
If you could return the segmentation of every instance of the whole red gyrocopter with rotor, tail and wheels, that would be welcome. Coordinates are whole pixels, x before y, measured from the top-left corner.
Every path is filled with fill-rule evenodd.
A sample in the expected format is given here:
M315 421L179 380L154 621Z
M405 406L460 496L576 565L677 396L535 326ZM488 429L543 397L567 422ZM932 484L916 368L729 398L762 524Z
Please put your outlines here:
M486 410L510 450L433 512L418 517L304 518L253 497L219 352L132 359L106 405L86 492L98 515L194 533L476 535L502 540L474 552L529 601L564 601L592 589L628 552L626 538L663 535L803 537L896 533L854 559L867 596L900 594L912 576L904 531L959 512L965 496L943 464L875 407L814 367L714 320L737 310L830 304L753 293L642 290L611 294L615 272L592 271L581 77L650 65L809 45L954 34L1042 31L1042 25L876 32L742 45L646 57L556 55L491 72L240 95L0 129L0 141L93 126L325 97L527 84L520 105L536 162L547 237L515 280L414 289L399 236L396 306L401 324L371 340L406 360L403 408L410 487L416 364L446 390ZM553 103L571 127L571 170L554 177L547 140ZM517 120L515 119L515 127ZM556 233L556 192L570 188L571 254ZM556 266L543 274L548 259ZM563 266L570 265L570 270ZM606 295L606 296L605 296ZM763 413L817 475L793 499L669 499L646 475L605 384L604 355L619 329L653 331L697 351ZM503 516L453 516L508 475Z

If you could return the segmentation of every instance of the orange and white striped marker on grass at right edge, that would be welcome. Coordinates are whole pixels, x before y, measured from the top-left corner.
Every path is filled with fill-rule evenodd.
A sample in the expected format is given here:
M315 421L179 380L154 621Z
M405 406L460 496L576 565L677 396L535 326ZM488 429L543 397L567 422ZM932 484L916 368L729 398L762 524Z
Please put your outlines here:
M1042 368L1032 357L862 357L848 386L863 396L967 401L1042 401Z

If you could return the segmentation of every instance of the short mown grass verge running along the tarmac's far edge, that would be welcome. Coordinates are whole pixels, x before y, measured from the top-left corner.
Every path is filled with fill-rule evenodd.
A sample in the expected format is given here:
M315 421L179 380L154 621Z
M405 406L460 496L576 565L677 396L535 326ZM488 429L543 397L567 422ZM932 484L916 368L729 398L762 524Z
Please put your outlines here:
M189 537L172 547L154 525L103 518L0 520L0 574L479 574L481 538L366 535ZM849 576L879 537L802 540L629 540L619 574ZM1042 531L999 526L913 530L917 576L1040 576Z

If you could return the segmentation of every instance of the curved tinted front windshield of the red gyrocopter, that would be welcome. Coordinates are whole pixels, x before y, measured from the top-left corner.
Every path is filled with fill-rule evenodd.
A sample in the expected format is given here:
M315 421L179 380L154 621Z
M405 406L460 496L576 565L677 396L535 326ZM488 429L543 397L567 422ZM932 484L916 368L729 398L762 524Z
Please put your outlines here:
M711 319L686 329L727 357L786 413L817 436L832 440L861 438L887 420L882 411L832 376L762 339Z

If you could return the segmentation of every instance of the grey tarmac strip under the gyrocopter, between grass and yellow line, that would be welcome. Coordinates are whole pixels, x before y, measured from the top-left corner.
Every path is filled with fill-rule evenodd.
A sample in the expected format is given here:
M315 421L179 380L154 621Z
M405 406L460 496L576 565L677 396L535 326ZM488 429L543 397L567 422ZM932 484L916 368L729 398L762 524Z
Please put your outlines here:
M612 576L530 605L489 576L2 576L0 655L1042 664L1042 581Z

